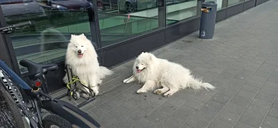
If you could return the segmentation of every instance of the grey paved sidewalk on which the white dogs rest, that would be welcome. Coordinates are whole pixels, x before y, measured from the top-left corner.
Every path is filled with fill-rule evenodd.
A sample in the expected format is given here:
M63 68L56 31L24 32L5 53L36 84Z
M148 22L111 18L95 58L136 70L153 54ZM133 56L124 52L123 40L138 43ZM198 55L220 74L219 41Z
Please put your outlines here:
M101 85L113 88L110 92L81 109L109 128L277 128L277 6L268 1L219 22L213 40L200 40L196 32L152 52L187 67L216 90L138 95L141 85L122 83L132 74L130 61Z

